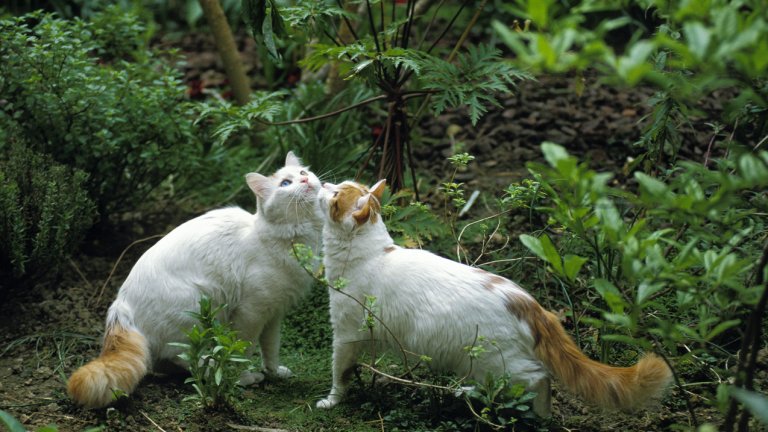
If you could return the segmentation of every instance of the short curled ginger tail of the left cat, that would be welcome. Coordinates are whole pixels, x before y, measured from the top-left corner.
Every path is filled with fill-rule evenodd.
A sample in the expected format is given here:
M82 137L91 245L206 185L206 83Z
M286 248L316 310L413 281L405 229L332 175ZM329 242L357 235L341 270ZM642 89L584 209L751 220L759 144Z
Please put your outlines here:
M101 408L114 401L115 390L130 393L147 374L149 347L136 330L116 324L107 329L101 355L69 378L67 392L86 408Z

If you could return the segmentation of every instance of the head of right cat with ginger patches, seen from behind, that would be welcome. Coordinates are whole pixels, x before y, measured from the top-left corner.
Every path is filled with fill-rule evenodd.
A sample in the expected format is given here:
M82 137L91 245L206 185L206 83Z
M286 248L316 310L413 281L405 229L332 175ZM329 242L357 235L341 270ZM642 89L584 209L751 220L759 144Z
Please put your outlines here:
M379 180L370 188L352 181L334 185L323 183L318 194L320 210L326 222L349 230L366 223L375 224L381 216L381 196L386 180Z

